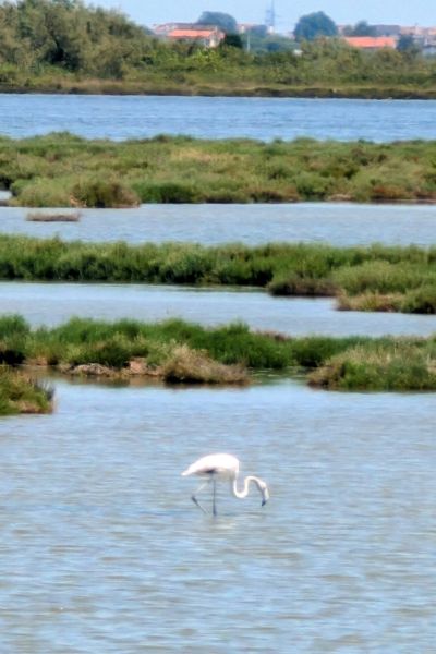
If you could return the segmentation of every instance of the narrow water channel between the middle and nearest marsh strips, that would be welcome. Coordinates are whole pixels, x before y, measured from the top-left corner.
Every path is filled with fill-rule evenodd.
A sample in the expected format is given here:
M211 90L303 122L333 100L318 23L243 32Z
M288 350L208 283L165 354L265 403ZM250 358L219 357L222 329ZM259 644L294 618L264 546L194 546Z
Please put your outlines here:
M33 325L58 325L72 316L145 322L179 317L206 326L242 320L253 329L294 336L436 332L432 315L339 312L332 299L150 284L0 282L0 310L19 313Z

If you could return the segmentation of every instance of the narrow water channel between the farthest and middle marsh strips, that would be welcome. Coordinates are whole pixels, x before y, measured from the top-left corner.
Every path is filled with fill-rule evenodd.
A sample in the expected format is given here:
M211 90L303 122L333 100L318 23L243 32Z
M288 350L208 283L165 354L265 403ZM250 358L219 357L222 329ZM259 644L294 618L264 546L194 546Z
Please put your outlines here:
M0 207L0 232L128 243L433 245L436 226L436 206L423 205L142 205L137 209L83 209L78 222L32 222L26 220L31 210L37 213Z

